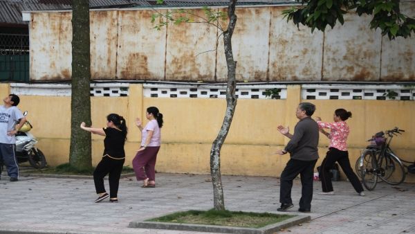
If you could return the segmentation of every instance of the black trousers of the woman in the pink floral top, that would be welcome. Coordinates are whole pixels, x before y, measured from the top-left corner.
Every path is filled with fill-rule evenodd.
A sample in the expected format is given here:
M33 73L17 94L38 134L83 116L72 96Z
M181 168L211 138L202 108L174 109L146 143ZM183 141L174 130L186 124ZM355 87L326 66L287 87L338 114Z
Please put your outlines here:
M324 158L320 168L320 179L322 179L323 192L333 191L333 183L331 183L330 170L331 168L333 168L333 165L336 161L339 163L344 174L346 174L347 179L349 179L351 185L356 190L356 192L362 192L362 183L360 183L358 176L356 176L356 174L351 169L349 161L349 152L338 150L333 147L329 148L329 151L326 154L326 158Z

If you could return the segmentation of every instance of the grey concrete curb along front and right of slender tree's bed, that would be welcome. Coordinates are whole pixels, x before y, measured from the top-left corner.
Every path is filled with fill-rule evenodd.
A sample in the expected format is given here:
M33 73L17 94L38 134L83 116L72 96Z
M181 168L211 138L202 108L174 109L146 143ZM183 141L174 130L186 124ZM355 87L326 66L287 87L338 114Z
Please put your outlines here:
M307 221L311 217L308 215L296 215L290 219L277 224L270 224L262 228L238 228L230 226L213 226L201 224L174 224L165 222L130 222L129 228L151 228L151 229L169 229L176 231L200 231L210 233L239 233L239 234L272 234L284 228L295 226Z

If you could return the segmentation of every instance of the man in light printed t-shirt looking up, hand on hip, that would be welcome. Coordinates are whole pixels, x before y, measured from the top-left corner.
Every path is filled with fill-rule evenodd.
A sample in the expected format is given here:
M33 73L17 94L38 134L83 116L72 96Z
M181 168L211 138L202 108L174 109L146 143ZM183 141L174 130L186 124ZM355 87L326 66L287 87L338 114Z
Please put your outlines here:
M0 162L6 165L10 181L18 181L19 167L15 156L15 134L24 125L26 118L17 108L20 102L19 96L10 94L3 99L3 102L4 105L0 106Z

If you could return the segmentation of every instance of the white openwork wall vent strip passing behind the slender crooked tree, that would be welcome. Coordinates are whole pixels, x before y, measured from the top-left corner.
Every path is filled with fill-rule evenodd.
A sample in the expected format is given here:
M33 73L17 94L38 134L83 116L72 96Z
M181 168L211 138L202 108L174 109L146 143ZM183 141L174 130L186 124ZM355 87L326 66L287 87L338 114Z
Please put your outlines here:
M226 98L225 84L144 84L144 96L149 98ZM274 99L286 99L286 85L237 84L239 99L270 99L268 89L279 89Z

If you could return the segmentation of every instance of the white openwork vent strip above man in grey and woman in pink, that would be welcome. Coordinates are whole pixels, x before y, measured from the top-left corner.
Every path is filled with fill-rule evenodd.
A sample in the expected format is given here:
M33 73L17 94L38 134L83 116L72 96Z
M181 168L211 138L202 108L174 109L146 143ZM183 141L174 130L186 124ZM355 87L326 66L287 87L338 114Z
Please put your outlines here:
M364 84L303 84L306 100L415 100L415 87Z

